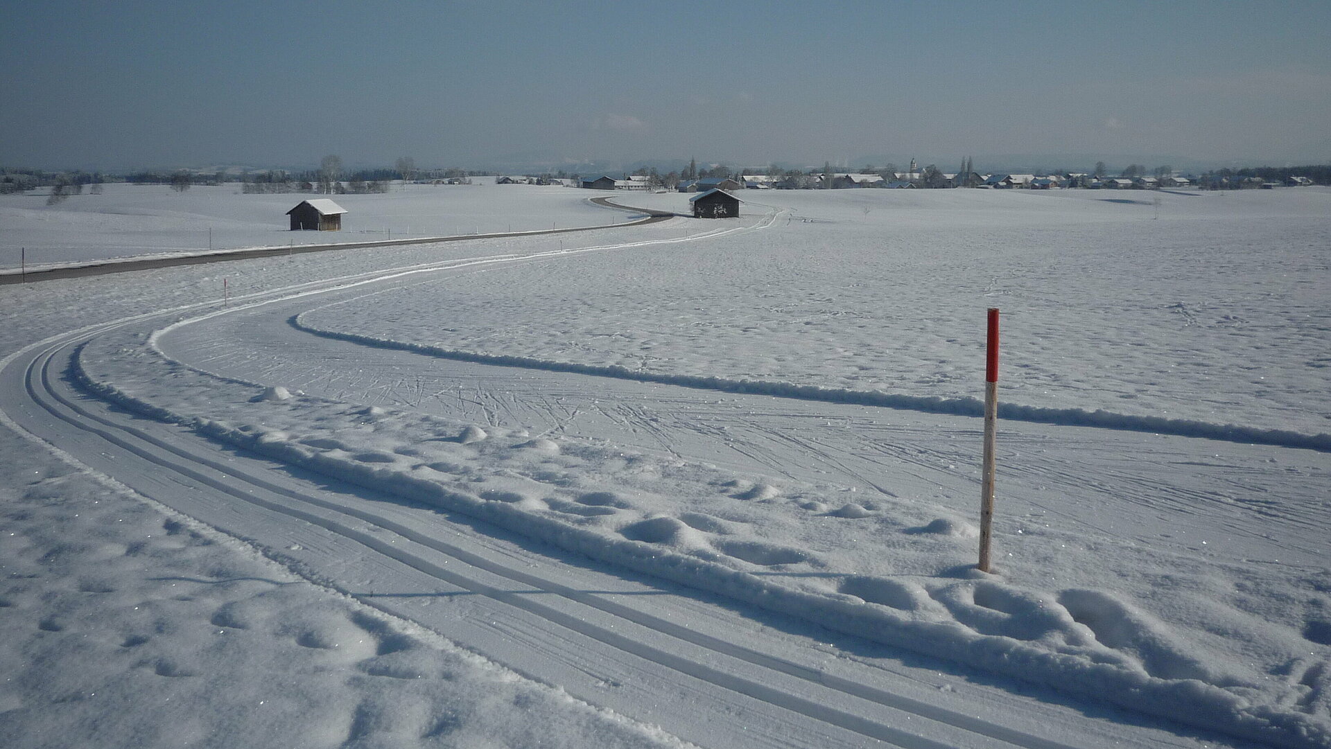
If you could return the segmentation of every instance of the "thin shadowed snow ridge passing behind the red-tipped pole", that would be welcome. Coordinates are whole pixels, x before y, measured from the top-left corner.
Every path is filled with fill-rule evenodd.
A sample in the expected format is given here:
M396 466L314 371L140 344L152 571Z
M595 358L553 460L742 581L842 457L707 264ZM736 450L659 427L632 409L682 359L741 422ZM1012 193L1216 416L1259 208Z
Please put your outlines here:
M379 338L342 330L314 327L309 322L303 321L303 313L293 315L287 322L297 330L322 338L346 341L350 343L374 346L379 349L414 351L418 354L459 362L586 374L636 382L652 382L659 384L677 384L681 387L716 390L721 392L747 392L772 395L776 398L796 398L800 400L876 406L905 411L924 411L928 414L948 414L954 416L981 418L985 414L985 403L978 398L937 398L873 390L817 387L775 380L663 374L631 370L618 365L584 365L579 362L516 357L510 354L484 354L479 351L445 349L425 343L394 341L391 338ZM1099 427L1251 444L1274 444L1278 447L1296 447L1303 450L1316 450L1319 452L1331 452L1331 434L1327 432L1304 434L1292 430L1259 428L1242 424L1219 424L1198 419L1173 419L1166 416L1115 414L1102 408L1097 408L1094 411L1086 408L1049 408L1044 406L1006 403L1001 399L998 403L998 416L1018 422L1036 422L1066 427Z

